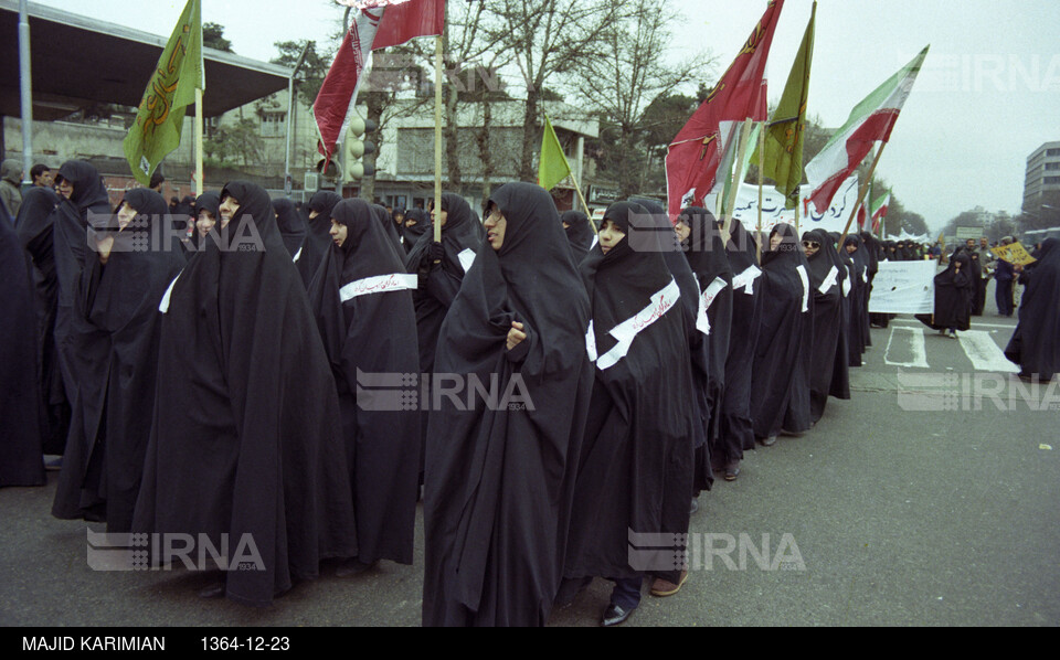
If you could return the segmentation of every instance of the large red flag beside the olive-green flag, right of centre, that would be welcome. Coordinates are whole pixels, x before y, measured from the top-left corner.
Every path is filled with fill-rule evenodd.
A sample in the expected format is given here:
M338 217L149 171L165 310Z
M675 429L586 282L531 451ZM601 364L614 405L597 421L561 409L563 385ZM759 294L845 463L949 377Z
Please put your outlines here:
M735 139L736 124L748 117L755 121L767 118L763 75L783 7L784 0L770 0L736 58L670 143L666 192L671 215L689 204L702 205L714 187L728 142Z

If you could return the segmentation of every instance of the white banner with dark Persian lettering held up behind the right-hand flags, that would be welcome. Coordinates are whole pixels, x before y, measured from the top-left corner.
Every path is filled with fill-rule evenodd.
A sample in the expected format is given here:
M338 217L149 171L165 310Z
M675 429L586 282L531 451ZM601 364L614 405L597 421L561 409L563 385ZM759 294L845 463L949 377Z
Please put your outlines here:
M831 200L831 206L828 211L820 213L813 202L809 201L809 193L813 192L809 185L803 185L799 194L803 196L803 207L798 214L799 232L809 232L814 230L825 230L826 232L842 233L847 221L850 220L850 213L854 211L855 201L858 199L858 177L854 175L842 182L836 196ZM716 213L717 195L709 195L703 203L711 213ZM868 209L866 209L868 211ZM733 210L733 217L743 223L749 232L754 234L759 225L759 187L750 183L742 183L736 192L736 204ZM766 234L780 223L787 223L795 226L795 210L784 207L784 195L776 192L772 185L762 189L762 231ZM858 231L857 219L850 225L850 232Z

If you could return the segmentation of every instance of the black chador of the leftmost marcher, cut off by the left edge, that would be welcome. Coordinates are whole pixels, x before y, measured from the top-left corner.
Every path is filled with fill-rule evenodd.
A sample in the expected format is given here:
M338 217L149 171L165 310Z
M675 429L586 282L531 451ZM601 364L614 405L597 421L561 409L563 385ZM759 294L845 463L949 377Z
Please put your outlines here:
M32 273L0 204L0 488L45 483Z

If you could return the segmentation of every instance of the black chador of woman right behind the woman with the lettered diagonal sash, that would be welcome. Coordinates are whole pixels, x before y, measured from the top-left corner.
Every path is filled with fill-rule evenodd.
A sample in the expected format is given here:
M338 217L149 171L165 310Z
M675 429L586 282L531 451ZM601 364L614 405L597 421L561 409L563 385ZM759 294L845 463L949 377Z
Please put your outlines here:
M725 361L729 355L729 332L732 326L732 267L725 253L725 244L714 216L701 207L689 207L681 212L678 222L689 226L689 238L686 242L685 256L688 265L696 275L700 290L700 307L707 307L707 320L710 332L707 334L707 352L709 369L706 379L699 376L699 385L706 397L707 412L707 449L697 447L697 478L695 490L709 488L713 480L711 457L721 457L725 450L721 447L721 402L725 388ZM708 302L707 296L716 280L723 283L723 288ZM696 374L698 370L693 370ZM706 462L704 462L706 461Z

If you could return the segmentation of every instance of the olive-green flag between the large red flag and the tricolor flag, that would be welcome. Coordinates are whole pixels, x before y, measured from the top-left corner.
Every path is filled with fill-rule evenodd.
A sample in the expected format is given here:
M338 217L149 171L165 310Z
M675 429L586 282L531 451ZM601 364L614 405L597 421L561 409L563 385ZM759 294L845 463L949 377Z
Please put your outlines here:
M806 98L809 93L809 67L814 61L814 19L817 3L809 14L803 43L798 46L792 73L787 76L781 103L773 113L765 134L765 163L762 174L776 181L776 191L785 196L784 206L798 205L798 187L803 182L803 129L806 126ZM754 161L759 156L755 153Z

